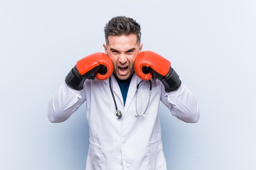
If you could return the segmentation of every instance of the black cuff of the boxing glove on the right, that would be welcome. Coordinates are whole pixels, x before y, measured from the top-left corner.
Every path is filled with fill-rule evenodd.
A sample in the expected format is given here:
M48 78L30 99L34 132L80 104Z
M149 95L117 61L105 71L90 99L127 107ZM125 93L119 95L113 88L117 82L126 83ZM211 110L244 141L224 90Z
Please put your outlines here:
M181 86L180 77L171 67L165 78L160 79L160 81L165 86L165 92L172 92L174 90L177 90Z

